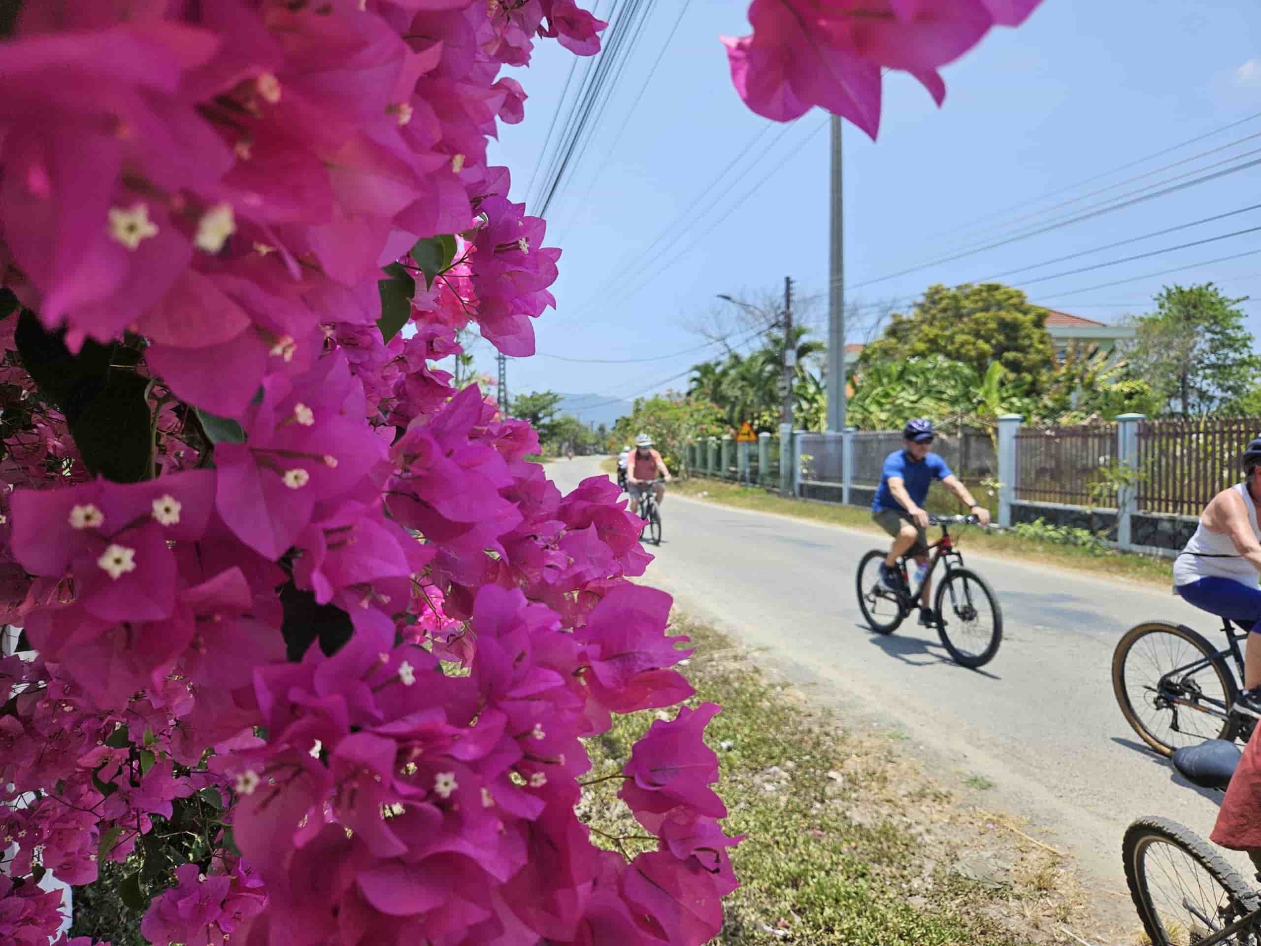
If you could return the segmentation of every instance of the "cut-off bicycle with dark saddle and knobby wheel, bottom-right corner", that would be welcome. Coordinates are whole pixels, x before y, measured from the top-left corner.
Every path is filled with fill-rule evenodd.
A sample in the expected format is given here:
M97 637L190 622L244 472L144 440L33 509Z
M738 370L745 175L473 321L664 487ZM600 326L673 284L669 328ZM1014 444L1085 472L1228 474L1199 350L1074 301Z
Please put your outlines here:
M1241 756L1235 743L1211 739L1177 749L1171 761L1193 785L1226 791ZM1194 831L1168 819L1141 817L1126 829L1121 856L1154 946L1261 943L1261 893Z

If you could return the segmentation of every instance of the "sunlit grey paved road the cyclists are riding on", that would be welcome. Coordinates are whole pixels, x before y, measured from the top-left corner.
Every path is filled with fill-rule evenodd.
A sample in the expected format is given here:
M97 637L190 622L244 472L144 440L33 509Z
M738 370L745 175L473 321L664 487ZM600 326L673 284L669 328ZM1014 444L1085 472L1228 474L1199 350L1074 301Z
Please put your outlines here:
M547 470L562 491L600 474L591 458ZM936 633L909 622L889 637L866 628L854 571L878 544L871 535L680 497L667 497L662 518L651 584L745 645L767 647L768 658L817 682L821 695L897 725L947 767L947 781L976 773L995 782L982 803L1054 831L1050 843L1068 848L1113 894L1126 891L1121 835L1134 817L1164 815L1202 835L1212 829L1217 801L1142 748L1110 677L1117 639L1139 621L1175 618L1212 632L1214 619L1182 599L1120 579L968 555L1004 614L1002 647L975 672L955 665ZM1108 914L1132 917L1127 896L1105 901Z

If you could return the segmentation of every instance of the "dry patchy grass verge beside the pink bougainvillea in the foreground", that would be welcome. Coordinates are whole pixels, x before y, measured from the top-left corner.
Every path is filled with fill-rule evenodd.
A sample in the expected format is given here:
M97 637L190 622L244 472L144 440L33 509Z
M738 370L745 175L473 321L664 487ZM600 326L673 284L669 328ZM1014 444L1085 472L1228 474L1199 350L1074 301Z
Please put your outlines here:
M1014 946L1053 942L1055 917L1082 918L1082 901L1069 896L1063 872L1048 872L1039 860L1044 851L1033 850L1026 865L1014 849L1018 836L987 831L961 811L902 747L881 734L841 733L835 719L793 687L777 686L750 652L719 632L686 622L676 629L696 647L683 667L697 690L690 705L723 706L707 742L730 810L724 827L747 835L731 855L741 887L728 898L714 943ZM608 734L590 740L589 777L619 772L656 718L617 718ZM643 834L617 800L618 785L614 778L593 786L579 815L604 832L605 840L593 834L596 843L634 854L643 841L607 839ZM1002 885L986 887L956 869L962 845L977 839L1001 848ZM1028 879L1035 874L1044 889Z

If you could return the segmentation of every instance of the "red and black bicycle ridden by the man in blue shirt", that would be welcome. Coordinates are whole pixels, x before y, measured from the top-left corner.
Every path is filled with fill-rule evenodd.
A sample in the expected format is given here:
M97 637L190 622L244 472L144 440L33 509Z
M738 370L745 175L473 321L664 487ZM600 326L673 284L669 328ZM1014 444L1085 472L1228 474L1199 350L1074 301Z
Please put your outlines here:
M880 564L888 552L873 549L859 563L859 608L871 629L892 634L910 614L918 610L919 593L944 561L946 578L933 595L933 623L950 656L965 667L981 667L994 660L1002 642L1002 610L989 583L968 568L963 568L963 555L950 537L952 525L976 525L976 516L929 516L929 526L939 526L942 537L929 546L933 552L928 571L914 590L907 575L910 555L898 560L902 575L900 590L888 588L880 578Z

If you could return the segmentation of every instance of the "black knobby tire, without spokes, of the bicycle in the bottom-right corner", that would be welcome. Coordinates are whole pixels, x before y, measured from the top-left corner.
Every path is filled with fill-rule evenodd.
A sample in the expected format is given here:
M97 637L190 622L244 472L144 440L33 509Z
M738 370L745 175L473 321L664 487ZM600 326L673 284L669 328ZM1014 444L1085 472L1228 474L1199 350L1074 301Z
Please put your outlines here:
M1229 914L1214 917L1221 923L1219 930L1257 908L1257 894L1240 877L1238 872L1222 859L1212 844L1177 821L1164 817L1140 817L1125 830L1125 839L1121 841L1121 858L1125 861L1125 880L1130 887L1130 897L1134 899L1135 909L1139 911L1139 918L1148 932L1148 938L1154 946L1177 946L1160 920L1160 912L1153 899L1151 885L1148 880L1146 855L1154 843L1164 843L1179 849L1199 864L1226 892ZM1208 932L1206 931L1206 936ZM1257 931L1252 932L1255 936ZM1182 941L1183 938L1179 937L1178 942ZM1252 936L1247 940L1231 940L1231 942L1237 943L1255 941Z

